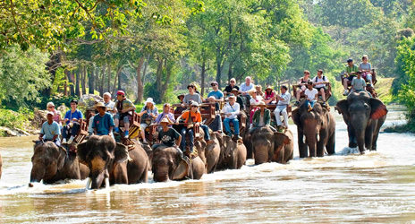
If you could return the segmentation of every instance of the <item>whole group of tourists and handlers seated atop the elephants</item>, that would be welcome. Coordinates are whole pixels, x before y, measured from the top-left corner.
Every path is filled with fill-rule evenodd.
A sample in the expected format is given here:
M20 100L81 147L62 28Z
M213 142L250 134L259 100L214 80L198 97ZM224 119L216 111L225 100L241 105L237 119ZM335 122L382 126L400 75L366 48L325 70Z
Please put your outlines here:
M349 94L348 85L351 82L351 91L365 90L366 81L373 86L371 65L368 63L368 56L362 57L362 63L358 67L353 65L353 60L347 60L344 72L343 87L344 95ZM326 103L326 86L329 83L323 70L319 69L317 75L310 79L309 71L304 71L304 76L298 82L295 106L300 106L301 94L305 96L308 110L311 111L321 96L321 105L328 107ZM148 98L140 113L140 137L143 143L148 143L146 139L146 129L150 125L157 126L157 143L153 148L164 145L167 147L178 145L182 151L189 145L190 151L194 146L194 130L198 127L203 130L204 139L207 143L212 142L209 129L214 132L223 133L241 139L240 121L241 111L245 111L249 116L249 133L253 133L258 127L269 126L275 132L283 132L288 128L288 106L291 94L287 86L282 85L279 93L268 85L263 91L262 86L254 85L250 76L245 78L240 86L232 78L224 91L219 89L217 82L211 82L207 99L203 99L197 90L197 86L191 83L187 86L188 93L177 96L180 106L174 110L172 106L165 103L162 113L158 112L153 99ZM116 92L116 99L112 101L109 92L103 94L103 102L97 102L95 112L89 115L89 134L110 135L123 134L123 138L129 137L131 117L136 107L127 99L123 90ZM215 119L207 126L202 120L199 106L202 103L209 103L215 107ZM274 116L276 128L270 125L271 111L267 108L275 105ZM60 135L62 134L62 144L71 144L75 136L80 131L80 123L83 114L78 107L78 101L71 101L71 109L68 110L64 119L53 102L47 103L47 121L42 125L39 139L42 141L53 141L56 145L61 145ZM177 118L174 115L180 114ZM222 118L224 117L224 118ZM231 127L233 125L233 128ZM63 126L64 125L64 126ZM121 131L120 125L123 126ZM186 142L186 140L188 142Z

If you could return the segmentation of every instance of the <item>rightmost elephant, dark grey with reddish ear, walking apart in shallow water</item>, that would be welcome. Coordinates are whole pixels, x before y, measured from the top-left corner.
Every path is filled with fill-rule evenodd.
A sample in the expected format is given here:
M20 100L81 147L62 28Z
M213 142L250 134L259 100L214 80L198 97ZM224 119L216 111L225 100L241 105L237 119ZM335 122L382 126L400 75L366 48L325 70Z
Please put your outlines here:
M379 130L387 114L385 104L371 98L366 91L360 91L351 92L347 99L337 102L335 108L347 125L349 147L358 146L361 154L365 146L369 151L376 151Z

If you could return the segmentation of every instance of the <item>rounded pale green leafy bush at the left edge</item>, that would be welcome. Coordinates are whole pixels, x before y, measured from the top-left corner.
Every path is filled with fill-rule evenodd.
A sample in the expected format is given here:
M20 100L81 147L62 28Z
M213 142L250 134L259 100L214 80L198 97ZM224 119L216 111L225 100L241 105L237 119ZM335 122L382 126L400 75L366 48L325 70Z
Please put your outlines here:
M36 101L39 91L50 86L47 60L47 54L35 48L22 52L19 47L7 47L0 56L0 102L19 108Z

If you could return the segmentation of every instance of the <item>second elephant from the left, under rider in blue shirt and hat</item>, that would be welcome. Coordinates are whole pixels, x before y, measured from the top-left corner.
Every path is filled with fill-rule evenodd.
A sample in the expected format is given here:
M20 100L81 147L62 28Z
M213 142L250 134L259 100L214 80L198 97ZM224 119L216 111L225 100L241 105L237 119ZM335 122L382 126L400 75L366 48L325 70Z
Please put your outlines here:
M90 169L90 188L114 184L137 184L148 181L148 156L136 142L131 150L108 135L93 135L78 145L80 162ZM89 183L87 184L89 188Z

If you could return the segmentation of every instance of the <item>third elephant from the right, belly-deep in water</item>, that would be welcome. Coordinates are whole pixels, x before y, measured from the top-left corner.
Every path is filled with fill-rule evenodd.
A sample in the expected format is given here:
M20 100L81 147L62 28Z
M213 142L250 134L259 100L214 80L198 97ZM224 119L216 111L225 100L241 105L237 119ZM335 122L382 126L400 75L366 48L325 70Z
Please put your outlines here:
M255 164L286 163L293 156L292 132L278 133L269 126L258 127L251 134Z

